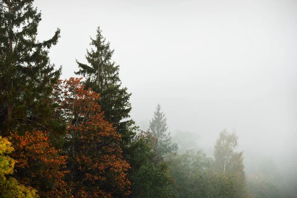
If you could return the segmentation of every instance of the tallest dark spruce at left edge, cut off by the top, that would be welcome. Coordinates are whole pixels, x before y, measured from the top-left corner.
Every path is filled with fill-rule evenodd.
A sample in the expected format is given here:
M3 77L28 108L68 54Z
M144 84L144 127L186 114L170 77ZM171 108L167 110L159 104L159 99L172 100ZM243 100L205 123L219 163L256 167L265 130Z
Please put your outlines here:
M41 13L34 0L0 0L0 129L29 130L49 127L49 95L61 68L49 62L49 48L57 43L60 30L53 37L36 39Z

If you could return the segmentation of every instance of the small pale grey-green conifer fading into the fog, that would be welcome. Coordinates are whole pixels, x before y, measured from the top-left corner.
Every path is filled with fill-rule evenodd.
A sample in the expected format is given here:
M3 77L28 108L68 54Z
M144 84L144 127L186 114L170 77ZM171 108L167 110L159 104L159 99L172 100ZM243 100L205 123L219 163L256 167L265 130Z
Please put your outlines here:
M177 150L177 144L171 144L170 133L166 134L168 129L167 118L165 117L165 113L161 112L160 104L157 105L153 118L149 121L149 128L153 136L157 139L157 153L159 155Z

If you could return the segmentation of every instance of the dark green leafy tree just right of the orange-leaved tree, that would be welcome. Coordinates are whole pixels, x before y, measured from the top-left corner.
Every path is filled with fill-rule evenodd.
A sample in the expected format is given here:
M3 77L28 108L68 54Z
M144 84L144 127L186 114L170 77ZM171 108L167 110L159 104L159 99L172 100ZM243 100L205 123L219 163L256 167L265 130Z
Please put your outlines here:
M141 132L131 142L129 158L132 167L133 198L177 197L168 164L156 152L156 139L150 132Z

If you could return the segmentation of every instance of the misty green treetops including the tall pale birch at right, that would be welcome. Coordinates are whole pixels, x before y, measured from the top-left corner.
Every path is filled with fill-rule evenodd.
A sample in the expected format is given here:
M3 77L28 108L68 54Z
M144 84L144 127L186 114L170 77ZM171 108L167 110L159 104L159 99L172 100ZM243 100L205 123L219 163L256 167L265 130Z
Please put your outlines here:
M235 145L237 145L237 137L235 135L230 137L227 132L222 132L215 146L215 160L207 157L202 150L198 150L195 153L194 149L187 150L184 154L170 154L166 156L170 174L176 179L179 197L247 197L247 188L245 177L242 176L242 169L240 171L236 169L236 165L242 165L242 161L233 162L233 159L240 159L238 153L233 151ZM224 171L224 167L219 166L221 164L219 160L225 160L225 158L230 158L230 163L227 164L228 169ZM243 168L242 166L239 167Z

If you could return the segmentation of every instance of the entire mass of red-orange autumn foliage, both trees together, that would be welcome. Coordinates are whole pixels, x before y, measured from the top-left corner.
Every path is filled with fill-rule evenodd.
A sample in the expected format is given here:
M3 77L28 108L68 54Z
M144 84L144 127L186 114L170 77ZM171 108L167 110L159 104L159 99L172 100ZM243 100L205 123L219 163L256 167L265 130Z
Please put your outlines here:
M99 94L85 90L80 80L59 81L51 98L56 102L52 119L67 125L59 137L63 150L51 145L50 131L11 134L15 177L42 197L126 197L130 166L122 158L121 136L104 119Z

